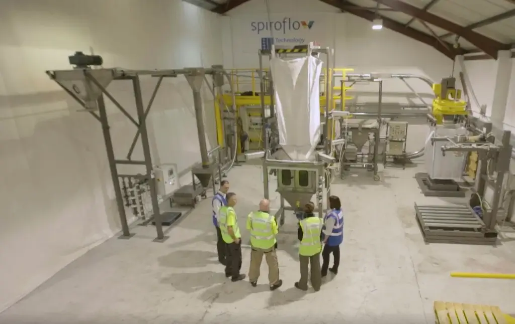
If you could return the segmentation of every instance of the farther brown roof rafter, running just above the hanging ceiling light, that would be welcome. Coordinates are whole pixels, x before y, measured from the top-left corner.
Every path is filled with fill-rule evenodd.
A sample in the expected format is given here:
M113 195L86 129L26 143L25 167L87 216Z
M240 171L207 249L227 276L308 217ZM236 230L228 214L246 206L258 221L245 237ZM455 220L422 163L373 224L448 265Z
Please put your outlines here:
M321 2L331 5L335 8L338 8L342 11L348 12L355 16L361 17L372 22L376 18L381 18L383 20L383 27L388 28L390 30L396 31L404 36L410 37L416 41L422 42L426 45L434 47L439 52L443 53L450 59L454 59L454 56L457 54L464 53L463 50L453 48L452 44L439 42L435 37L418 31L416 29L410 27L404 27L403 24L396 22L390 18L377 14L376 12L370 10L361 10L361 9L353 9L352 4L350 4L346 0L320 0ZM356 6L354 6L356 7ZM447 46L446 46L447 45Z

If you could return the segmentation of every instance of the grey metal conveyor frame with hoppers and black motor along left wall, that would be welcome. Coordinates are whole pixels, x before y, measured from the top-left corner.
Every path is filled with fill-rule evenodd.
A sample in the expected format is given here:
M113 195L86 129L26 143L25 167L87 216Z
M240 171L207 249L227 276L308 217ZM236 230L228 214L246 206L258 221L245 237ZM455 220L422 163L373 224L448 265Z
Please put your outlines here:
M85 111L90 113L90 115L92 115L101 124L102 133L104 135L104 141L106 144L106 151L109 161L109 168L111 171L116 204L122 225L123 237L129 238L132 236L129 231L129 225L127 223L125 207L131 207L132 211L135 211L137 216L141 216L141 208L138 208L137 203L132 204L134 200L133 198L135 197L138 199L140 192L134 193L135 186L129 185L129 183L138 183L140 187L141 185L148 187L152 205L152 216L148 221L153 221L156 225L156 240L164 241L167 237L163 232L163 220L167 220L168 218L177 218L176 214L178 213L161 213L159 210L156 176L154 173L150 154L146 118L152 103L156 98L163 78L175 78L180 74L184 74L193 90L195 116L197 119L200 153L202 157L202 162L200 165L193 168L192 173L200 180L202 191L209 185L210 181L213 181L213 189L215 190L214 175L216 173L215 171L217 170L217 167L209 161L207 143L205 141L204 135L200 87L202 86L202 82L204 80L204 74L219 74L223 73L223 71L218 67L216 69L186 68L178 70L125 70L118 68L93 69L91 68L92 66L102 65L102 58L98 55L84 55L81 52L77 52L75 55L70 56L69 59L70 64L74 65L74 69L46 71L46 73L50 79L54 80L61 88L63 88L64 91L66 91L66 93L70 94L70 96L74 98L79 103L79 105L84 108ZM150 97L146 107L144 106L142 99L140 83L140 77L142 75L149 75L158 78L156 87L153 90L152 96ZM107 90L108 85L115 80L129 80L132 82L136 112L138 116L137 119L134 119L130 113L127 112L127 110ZM104 96L107 97L114 104L114 106L116 106L123 113L123 115L125 115L127 119L136 127L134 139L125 159L115 158ZM136 161L132 160L132 153L140 136L143 148L143 159ZM141 171L141 173L119 174L117 167L120 165L132 165L136 167L140 166L144 167L144 169ZM221 174L219 169L218 173ZM120 180L123 180L122 185ZM122 187L124 188L126 197L124 197L122 193ZM197 190L194 181L193 194L196 194L197 192L200 192L200 190ZM170 197L161 198L164 200Z

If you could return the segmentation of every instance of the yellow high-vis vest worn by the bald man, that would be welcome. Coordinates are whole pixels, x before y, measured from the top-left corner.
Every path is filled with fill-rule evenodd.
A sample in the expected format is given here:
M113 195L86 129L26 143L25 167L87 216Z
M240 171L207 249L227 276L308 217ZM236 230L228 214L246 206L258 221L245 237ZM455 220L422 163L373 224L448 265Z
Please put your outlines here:
M273 215L264 212L252 212L250 217L250 244L258 249L270 249L276 244L272 225L276 221Z

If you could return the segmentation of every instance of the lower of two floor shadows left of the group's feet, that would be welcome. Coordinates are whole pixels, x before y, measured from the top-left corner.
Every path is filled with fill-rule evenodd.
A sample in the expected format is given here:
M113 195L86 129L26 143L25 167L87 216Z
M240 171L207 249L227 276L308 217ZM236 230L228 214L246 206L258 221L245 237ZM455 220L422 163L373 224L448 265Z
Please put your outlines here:
M170 284L171 287L185 293L193 293L213 286L218 287L225 281L223 272L214 271L173 273L161 279L161 283Z

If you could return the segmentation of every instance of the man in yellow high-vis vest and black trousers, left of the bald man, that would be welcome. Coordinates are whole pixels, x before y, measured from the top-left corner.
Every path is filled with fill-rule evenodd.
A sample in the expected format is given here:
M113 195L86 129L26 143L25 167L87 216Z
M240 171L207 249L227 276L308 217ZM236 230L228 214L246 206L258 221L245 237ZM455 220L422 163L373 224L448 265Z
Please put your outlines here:
M218 215L222 239L227 244L225 273L232 281L239 281L245 279L245 275L239 273L242 269L242 235L239 233L238 218L234 211L236 194L228 193L226 200L227 206L221 207Z

